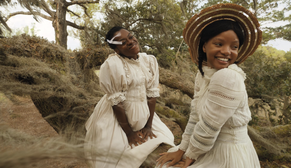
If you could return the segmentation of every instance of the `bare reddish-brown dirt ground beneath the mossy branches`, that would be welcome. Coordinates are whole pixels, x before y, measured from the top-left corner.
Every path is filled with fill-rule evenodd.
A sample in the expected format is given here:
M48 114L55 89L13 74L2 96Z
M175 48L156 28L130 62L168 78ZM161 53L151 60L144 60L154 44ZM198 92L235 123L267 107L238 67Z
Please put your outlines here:
M0 95L1 116L0 120L9 125L9 127L16 129L20 132L25 132L39 138L52 138L57 137L57 132L42 118L39 111L36 109L30 98L19 98L20 102L17 104L12 103L5 96ZM168 121L164 118L161 120L169 127L175 137L175 144L179 144L182 139L182 131L178 124ZM5 150L5 146L0 147ZM11 149L11 148L7 148ZM267 168L266 162L261 162L262 168ZM288 163L281 163L288 165ZM72 159L47 159L41 163L32 164L32 167L42 168L89 168L90 166L85 161L72 160Z

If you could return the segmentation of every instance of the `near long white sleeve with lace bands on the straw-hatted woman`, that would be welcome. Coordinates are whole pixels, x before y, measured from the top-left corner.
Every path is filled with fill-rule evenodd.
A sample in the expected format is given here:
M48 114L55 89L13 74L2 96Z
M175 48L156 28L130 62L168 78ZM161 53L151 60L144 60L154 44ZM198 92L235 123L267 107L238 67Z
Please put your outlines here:
M244 92L244 79L237 71L224 68L213 74L186 156L197 159L213 147L221 127L239 107Z

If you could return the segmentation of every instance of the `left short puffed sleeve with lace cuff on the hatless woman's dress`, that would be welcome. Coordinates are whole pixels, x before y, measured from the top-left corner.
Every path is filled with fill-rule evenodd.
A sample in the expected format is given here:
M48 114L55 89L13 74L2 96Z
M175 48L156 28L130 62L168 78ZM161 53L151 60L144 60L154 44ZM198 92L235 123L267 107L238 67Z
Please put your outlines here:
M113 106L125 100L127 80L124 64L118 56L109 57L101 65L99 81L101 90L107 94L107 103Z

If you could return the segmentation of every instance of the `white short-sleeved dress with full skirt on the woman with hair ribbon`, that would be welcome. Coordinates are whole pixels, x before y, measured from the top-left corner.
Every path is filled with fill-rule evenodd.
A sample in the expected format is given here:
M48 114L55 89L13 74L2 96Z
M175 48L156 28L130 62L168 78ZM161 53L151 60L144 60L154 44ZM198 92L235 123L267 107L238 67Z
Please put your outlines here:
M109 55L100 68L100 87L106 94L86 122L85 155L94 168L138 168L161 143L174 145L174 136L154 113L152 131L157 138L131 149L112 106L122 101L133 131L144 128L150 111L147 97L159 96L159 71L152 55L139 53L137 60Z

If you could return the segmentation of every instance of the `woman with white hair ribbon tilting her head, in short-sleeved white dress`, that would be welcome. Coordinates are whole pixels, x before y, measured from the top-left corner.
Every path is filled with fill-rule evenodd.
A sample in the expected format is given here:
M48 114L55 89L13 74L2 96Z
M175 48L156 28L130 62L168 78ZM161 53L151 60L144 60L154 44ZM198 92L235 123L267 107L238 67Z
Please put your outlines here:
M123 27L110 29L106 41L116 53L100 68L106 94L85 125L85 148L91 151L86 156L96 168L138 168L159 144L175 146L172 132L154 112L157 60L139 53L137 39Z

